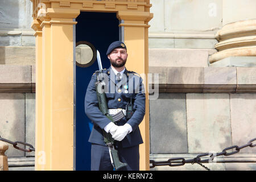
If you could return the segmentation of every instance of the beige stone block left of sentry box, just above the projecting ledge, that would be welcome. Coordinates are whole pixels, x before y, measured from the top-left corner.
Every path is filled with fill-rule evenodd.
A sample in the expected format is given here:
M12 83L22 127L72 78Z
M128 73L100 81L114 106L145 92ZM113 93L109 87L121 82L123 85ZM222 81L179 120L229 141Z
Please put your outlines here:
M0 46L0 64L35 65L35 47Z

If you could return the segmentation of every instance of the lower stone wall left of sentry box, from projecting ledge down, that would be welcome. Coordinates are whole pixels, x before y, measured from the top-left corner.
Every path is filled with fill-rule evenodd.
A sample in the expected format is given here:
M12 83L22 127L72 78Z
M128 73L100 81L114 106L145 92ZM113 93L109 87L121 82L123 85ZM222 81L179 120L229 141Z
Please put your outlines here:
M35 147L35 66L0 65L0 135ZM23 147L23 145L18 145ZM9 144L6 151L9 170L34 169L34 152L16 150ZM32 158L31 158L32 157ZM32 164L31 164L32 163ZM18 168L17 168L18 167Z

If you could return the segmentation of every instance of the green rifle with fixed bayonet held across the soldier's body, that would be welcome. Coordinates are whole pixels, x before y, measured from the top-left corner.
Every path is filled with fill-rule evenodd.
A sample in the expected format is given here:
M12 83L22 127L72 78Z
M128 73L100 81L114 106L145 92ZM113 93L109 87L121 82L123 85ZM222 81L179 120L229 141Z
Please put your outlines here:
M100 69L99 71L96 71L97 81L95 82L96 93L97 93L97 98L98 98L98 106L99 106L99 109L102 112L102 114L106 115L106 117L109 118L110 121L115 123L119 119L124 118L125 115L123 114L122 111L119 111L115 115L110 115L108 113L108 104L106 101L106 94L104 93L104 86L106 85L106 83L103 79L101 79L99 77L99 74L102 73L103 69L102 69L102 65L101 65L100 52L98 52L98 50L97 50L97 60L98 60L98 67ZM122 163L119 160L118 151L115 150L115 148L114 148L114 139L112 138L112 135L110 133L106 133L105 130L102 130L102 131L103 131L103 135L104 135L104 142L106 143L106 146L109 147L110 160L111 160L111 163L112 163L114 169L118 170L122 167L127 166L126 163Z

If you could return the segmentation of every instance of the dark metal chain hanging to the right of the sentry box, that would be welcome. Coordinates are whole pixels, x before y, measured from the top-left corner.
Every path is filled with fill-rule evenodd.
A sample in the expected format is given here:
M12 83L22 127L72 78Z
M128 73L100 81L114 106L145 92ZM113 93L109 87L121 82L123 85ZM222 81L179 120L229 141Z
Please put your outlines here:
M229 155L237 154L242 148L245 148L245 147L255 147L256 144L253 144L253 142L255 140L256 140L256 138L251 139L247 144L244 144L241 147L238 147L238 146L226 147L226 148L224 148L224 150L222 150L222 152L219 152L217 154L213 154L213 153L200 154L200 155L197 155L196 158L193 158L193 159L185 160L184 158L171 158L171 159L168 159L167 161L159 161L159 162L156 162L155 160L150 160L150 164L152 164L152 166L150 166L150 168L154 168L155 166L183 166L185 163L191 163L191 164L197 163L200 166L207 169L208 171L210 171L209 168L207 168L206 166L204 166L201 163L209 163L215 157L220 156L220 155L229 156ZM236 151L227 152L228 150L231 150L233 148L235 148ZM201 157L203 157L203 156L209 156L209 158L202 160Z

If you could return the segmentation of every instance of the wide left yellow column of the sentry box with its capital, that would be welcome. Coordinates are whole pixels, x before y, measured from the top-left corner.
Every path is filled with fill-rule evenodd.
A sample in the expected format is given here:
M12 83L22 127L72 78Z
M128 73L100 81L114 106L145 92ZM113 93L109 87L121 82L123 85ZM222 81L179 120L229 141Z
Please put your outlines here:
M42 134L36 143L45 163L36 160L36 169L73 170L73 18L79 14L48 8L40 18L42 80L36 84L42 88Z

